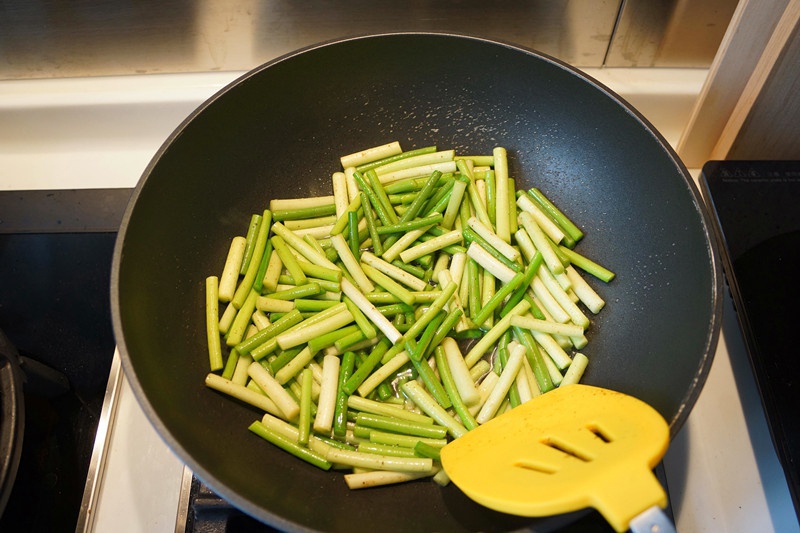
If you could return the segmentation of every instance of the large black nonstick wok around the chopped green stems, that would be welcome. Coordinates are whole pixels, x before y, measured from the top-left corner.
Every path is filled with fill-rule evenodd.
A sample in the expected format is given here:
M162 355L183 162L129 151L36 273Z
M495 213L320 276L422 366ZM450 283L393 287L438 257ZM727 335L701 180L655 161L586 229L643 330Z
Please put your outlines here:
M699 194L664 139L608 89L552 58L460 36L395 34L289 54L193 113L145 170L114 256L114 329L137 398L221 496L280 529L506 531L453 486L345 488L257 437L259 414L206 389L204 279L270 198L330 194L338 157L399 140L508 149L617 278L595 283L584 381L649 402L672 433L715 351L720 267ZM541 525L544 522L536 522ZM537 526L538 527L538 526Z

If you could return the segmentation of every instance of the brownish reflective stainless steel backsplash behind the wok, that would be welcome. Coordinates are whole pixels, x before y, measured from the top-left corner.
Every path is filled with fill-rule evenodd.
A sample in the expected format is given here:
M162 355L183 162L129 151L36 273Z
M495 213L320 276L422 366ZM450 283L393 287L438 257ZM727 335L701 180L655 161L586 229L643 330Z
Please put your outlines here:
M248 70L392 31L456 32L579 67L707 67L736 0L0 0L0 79Z

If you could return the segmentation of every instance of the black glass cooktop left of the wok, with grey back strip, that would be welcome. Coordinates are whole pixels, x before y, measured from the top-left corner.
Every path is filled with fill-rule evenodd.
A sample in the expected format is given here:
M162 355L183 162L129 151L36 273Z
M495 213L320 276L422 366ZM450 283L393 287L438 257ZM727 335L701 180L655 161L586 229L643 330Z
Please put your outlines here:
M0 330L24 371L0 531L75 531L114 355L111 256L130 194L0 191Z

